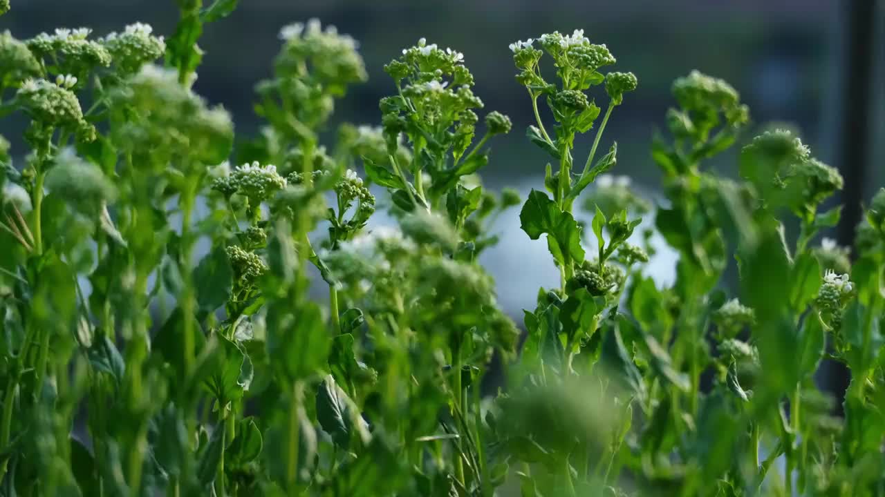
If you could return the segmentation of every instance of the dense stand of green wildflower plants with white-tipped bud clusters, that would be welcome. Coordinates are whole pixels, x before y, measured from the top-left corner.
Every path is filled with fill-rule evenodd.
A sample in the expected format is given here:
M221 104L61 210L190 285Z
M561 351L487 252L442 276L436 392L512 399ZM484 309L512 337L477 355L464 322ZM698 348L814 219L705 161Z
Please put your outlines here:
M791 132L744 140L735 88L693 72L651 202L614 143L596 157L637 80L580 29L511 45L558 164L526 199L478 176L512 121L423 39L385 66L380 126L326 134L358 43L283 27L235 142L192 85L236 4L178 0L167 37L0 34L28 122L27 150L0 138L0 495L881 494L885 190L850 248L818 243L839 172ZM738 142L737 180L706 167ZM519 205L560 273L522 333L477 260ZM842 417L824 358L851 374Z

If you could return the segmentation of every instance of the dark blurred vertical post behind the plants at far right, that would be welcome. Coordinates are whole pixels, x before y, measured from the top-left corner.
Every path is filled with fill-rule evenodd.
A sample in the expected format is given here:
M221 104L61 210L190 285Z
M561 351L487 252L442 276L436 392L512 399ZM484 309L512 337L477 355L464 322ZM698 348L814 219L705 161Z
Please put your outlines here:
M854 230L863 218L861 200L866 195L871 143L873 103L873 67L875 60L876 14L881 0L846 0L843 35L842 93L839 95L841 116L838 120L836 166L843 174L842 219L837 238L840 245L852 247ZM838 365L828 375L830 389L842 398L850 383L850 373ZM840 407L841 409L841 407Z

